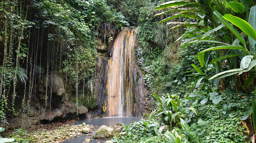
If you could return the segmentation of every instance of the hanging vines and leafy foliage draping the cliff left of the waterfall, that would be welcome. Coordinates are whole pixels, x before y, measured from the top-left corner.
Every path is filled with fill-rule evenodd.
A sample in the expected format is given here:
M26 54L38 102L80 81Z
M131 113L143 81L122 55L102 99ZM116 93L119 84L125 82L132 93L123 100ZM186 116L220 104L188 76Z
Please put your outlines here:
M113 20L106 2L4 0L0 2L0 19L0 36L4 41L0 51L4 55L0 66L1 110L5 113L8 109L14 115L23 112L26 116L33 89L38 85L38 74L41 82L42 75L49 80L53 74L66 73L66 81L71 79L75 84L78 106L78 85L94 76L98 25ZM24 95L15 91L18 82L24 84L21 87L25 89ZM46 88L52 87L48 83L51 82L47 82ZM48 91L46 89L45 107L51 104L48 100L52 93ZM21 102L21 107L16 109L18 112L14 108L16 97ZM95 106L94 101L90 103ZM5 114L1 114L1 118L5 119Z

